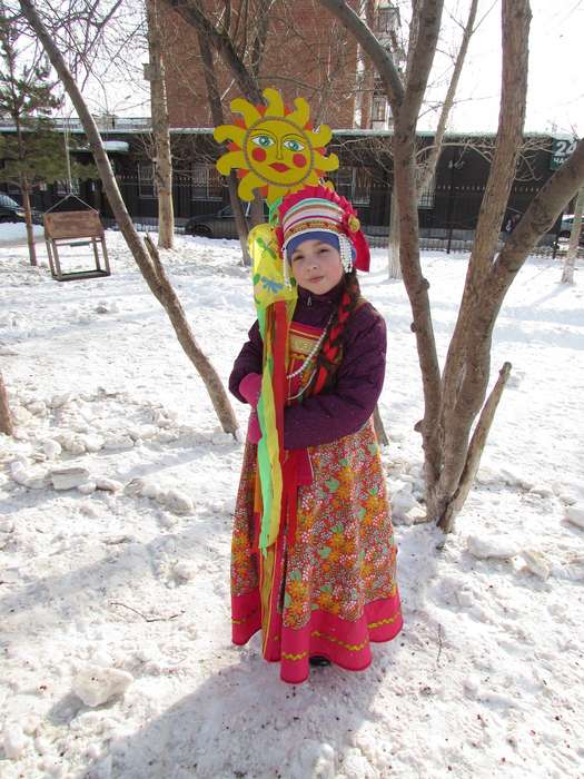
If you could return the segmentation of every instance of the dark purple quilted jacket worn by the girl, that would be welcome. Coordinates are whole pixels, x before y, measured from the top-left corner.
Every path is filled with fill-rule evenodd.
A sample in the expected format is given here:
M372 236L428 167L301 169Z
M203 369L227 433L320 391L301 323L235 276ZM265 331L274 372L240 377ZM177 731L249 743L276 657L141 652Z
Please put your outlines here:
M295 322L325 327L338 306L340 294L340 285L326 295L313 295L299 287ZM239 393L239 383L248 373L261 373L261 336L256 322L229 376L229 391L241 403L246 400ZM363 427L382 392L385 353L385 322L370 303L365 303L345 325L343 362L335 376L335 386L285 410L285 448L328 444Z

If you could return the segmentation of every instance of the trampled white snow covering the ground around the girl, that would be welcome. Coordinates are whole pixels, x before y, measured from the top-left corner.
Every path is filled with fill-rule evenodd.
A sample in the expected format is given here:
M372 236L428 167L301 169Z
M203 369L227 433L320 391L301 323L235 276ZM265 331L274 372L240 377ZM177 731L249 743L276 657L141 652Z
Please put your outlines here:
M508 295L493 375L509 359L513 377L441 550L412 523L422 411L407 298L374 253L363 287L389 334L380 410L405 629L367 671L316 669L294 688L257 637L230 644L242 444L218 428L120 235L107 238L113 275L85 282L53 282L43 248L39 268L24 247L0 250L17 423L16 440L0 435L2 779L582 776L582 279L562 286L537 259ZM194 238L165 255L224 379L253 321L237 255ZM444 354L466 258L424 264Z

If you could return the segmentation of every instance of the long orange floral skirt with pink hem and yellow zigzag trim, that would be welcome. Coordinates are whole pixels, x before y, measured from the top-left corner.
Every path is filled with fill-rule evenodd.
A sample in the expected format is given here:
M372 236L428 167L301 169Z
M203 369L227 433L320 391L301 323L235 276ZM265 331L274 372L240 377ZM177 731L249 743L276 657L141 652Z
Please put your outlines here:
M308 448L313 482L298 489L294 542L287 527L264 556L254 548L257 447L247 442L231 549L232 640L263 631L266 660L284 681L308 678L310 655L366 669L370 641L402 628L396 545L373 422Z

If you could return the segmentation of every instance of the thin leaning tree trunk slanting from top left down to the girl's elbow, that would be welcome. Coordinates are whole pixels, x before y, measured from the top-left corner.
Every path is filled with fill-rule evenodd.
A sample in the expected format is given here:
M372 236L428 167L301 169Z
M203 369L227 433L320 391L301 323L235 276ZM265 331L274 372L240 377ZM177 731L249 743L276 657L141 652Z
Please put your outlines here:
M231 404L229 403L227 393L225 392L225 387L221 384L221 379L195 339L192 331L190 329L185 316L182 306L180 305L180 300L172 289L162 265L160 264L156 247L151 246L151 248L147 250L143 241L136 231L132 220L121 198L118 184L113 176L113 171L111 170L111 165L103 148L103 142L93 117L91 116L79 88L73 81L63 57L44 28L34 7L32 6L31 0L20 0L20 7L28 22L37 33L51 61L52 67L57 71L57 75L59 76L65 89L67 90L67 93L71 99L71 102L77 110L91 147L91 151L98 167L99 176L103 184L103 189L106 190L107 198L111 206L111 210L113 211L116 221L118 223L123 238L132 253L136 264L140 268L142 276L145 277L151 292L167 312L180 345L185 349L187 356L192 361L192 364L202 378L214 408L221 423L222 430L226 433L230 433L235 436L238 427L237 420L231 408ZM150 259L151 256L152 259Z

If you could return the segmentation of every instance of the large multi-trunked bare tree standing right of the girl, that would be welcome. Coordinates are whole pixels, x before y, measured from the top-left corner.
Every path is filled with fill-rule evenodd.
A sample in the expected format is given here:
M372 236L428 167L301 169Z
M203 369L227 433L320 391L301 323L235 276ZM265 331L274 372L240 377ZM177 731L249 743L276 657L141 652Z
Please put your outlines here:
M424 417L416 428L422 434L424 448L427 515L449 532L473 483L509 369L504 366L501 382L485 403L492 335L501 305L531 249L582 186L584 141L576 145L571 159L548 179L497 255L499 227L522 144L531 20L527 0L503 0L499 125L463 300L441 374L428 299L429 284L422 272L419 257L415 138L436 51L443 3L441 0L419 0L414 4L416 34L405 82L383 46L345 0L320 0L320 3L345 24L368 53L383 80L394 115L399 260L412 306L412 331L416 336L424 391Z

